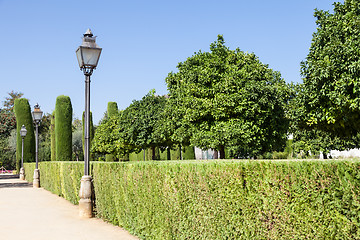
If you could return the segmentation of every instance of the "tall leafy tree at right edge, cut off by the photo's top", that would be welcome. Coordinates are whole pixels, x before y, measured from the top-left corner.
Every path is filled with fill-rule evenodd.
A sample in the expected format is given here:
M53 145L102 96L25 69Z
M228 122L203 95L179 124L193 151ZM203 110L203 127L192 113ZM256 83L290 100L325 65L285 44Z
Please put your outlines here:
M314 16L317 31L301 63L300 124L351 142L360 126L360 1L334 3L333 13Z

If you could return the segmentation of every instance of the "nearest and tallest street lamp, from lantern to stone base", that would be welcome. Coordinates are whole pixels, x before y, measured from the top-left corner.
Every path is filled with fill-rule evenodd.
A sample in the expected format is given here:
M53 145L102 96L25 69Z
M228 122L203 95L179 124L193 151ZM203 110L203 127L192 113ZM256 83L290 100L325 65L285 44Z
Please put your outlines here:
M92 217L92 178L89 174L90 163L90 76L96 68L101 48L96 44L96 37L88 29L84 34L81 46L76 50L80 70L85 75L85 132L84 132L84 176L81 178L79 214L80 217Z

